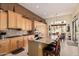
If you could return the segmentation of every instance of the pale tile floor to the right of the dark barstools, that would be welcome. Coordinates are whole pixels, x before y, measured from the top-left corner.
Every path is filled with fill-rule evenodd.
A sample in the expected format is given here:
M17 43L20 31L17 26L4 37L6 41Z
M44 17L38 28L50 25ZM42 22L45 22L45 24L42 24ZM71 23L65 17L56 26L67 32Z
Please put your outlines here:
M78 46L70 46L67 44L69 40L65 40L64 42L61 42L61 56L78 56ZM71 41L70 41L71 42Z

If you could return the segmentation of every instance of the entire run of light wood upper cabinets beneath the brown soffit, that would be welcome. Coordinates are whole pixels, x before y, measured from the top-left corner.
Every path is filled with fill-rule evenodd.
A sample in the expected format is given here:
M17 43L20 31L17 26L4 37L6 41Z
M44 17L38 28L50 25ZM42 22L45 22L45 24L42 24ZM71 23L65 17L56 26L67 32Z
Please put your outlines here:
M0 30L5 30L7 28L22 29L26 31L31 31L33 26L39 31L46 24L39 21L32 21L29 18L23 17L21 14L8 10L8 12L0 11Z

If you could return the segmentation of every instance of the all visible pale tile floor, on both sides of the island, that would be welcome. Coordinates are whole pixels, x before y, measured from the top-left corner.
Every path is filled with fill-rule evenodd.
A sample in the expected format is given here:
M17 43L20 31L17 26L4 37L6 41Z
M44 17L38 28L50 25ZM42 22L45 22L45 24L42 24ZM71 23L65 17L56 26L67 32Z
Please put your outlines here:
M64 42L61 42L61 52L60 56L78 56L79 51L77 46L69 46L67 44L69 40L65 40ZM25 51L13 55L13 54L7 54L6 56L27 56L27 49L25 48Z

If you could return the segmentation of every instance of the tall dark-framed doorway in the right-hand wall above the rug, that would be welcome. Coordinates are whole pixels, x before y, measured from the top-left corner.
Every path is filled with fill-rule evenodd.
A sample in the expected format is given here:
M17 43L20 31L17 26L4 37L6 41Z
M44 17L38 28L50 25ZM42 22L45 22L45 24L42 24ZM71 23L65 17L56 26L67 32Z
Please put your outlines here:
M74 17L74 21L72 22L72 40L78 43L78 36L79 36L79 20L78 16Z

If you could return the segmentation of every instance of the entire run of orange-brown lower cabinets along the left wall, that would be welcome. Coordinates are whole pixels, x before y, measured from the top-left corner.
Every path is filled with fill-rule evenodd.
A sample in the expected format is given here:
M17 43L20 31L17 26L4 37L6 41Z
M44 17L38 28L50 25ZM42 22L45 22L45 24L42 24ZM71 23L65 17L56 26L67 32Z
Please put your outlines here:
M0 40L0 55L7 54L24 47L24 37L14 37Z

